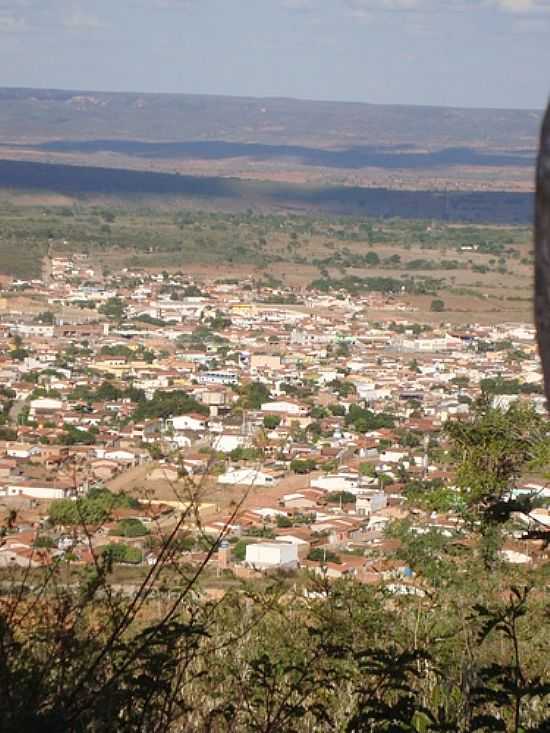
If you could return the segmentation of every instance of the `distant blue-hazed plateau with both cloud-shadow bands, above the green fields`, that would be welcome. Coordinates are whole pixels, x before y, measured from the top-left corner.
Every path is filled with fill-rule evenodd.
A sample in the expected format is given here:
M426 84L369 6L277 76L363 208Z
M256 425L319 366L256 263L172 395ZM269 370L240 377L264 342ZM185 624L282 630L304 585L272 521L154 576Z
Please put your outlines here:
M537 110L0 88L0 188L526 223L541 118Z

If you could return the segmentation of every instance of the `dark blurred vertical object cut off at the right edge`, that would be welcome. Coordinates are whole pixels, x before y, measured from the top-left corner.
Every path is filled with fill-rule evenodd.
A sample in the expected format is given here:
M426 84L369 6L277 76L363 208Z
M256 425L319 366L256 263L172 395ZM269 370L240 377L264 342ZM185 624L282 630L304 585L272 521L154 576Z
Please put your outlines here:
M550 106L542 125L535 212L535 324L550 401Z

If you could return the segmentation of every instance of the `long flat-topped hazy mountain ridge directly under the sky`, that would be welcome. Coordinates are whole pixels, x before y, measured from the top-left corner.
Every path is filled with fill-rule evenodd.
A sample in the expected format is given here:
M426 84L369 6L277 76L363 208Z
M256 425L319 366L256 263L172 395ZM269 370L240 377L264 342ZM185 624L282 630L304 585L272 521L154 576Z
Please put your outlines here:
M394 152L531 154L538 110L458 109L280 98L0 88L0 142L224 141Z

